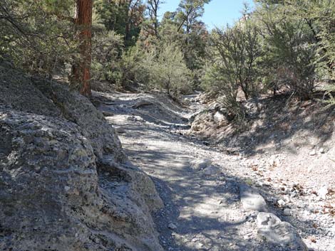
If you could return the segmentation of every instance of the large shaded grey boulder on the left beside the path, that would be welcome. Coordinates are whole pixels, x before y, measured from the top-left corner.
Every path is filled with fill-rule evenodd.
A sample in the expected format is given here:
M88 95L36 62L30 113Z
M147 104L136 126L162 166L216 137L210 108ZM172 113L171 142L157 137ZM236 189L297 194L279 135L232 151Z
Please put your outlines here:
M85 97L0 71L0 250L159 251L162 205Z

